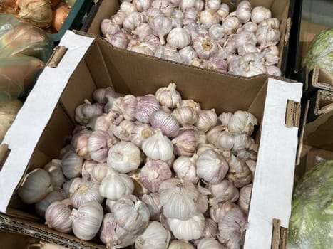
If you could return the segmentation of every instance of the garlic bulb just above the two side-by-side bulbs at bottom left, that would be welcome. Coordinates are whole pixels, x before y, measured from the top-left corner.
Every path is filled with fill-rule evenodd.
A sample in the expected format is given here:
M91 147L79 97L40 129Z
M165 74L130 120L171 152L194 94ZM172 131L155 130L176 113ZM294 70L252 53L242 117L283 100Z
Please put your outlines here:
M100 183L91 183L90 181L83 181L78 189L71 196L71 203L74 208L79 208L83 203L88 201L96 201L102 203L103 196L99 193Z

